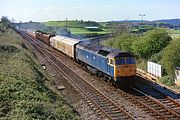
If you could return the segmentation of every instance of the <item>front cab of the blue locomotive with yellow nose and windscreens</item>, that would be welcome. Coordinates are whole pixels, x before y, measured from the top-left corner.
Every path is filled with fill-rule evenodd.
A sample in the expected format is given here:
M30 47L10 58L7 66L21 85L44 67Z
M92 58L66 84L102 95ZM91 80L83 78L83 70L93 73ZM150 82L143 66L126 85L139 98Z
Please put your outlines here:
M111 52L107 57L108 71L114 73L113 76L115 81L123 78L131 78L136 75L135 57L129 52Z

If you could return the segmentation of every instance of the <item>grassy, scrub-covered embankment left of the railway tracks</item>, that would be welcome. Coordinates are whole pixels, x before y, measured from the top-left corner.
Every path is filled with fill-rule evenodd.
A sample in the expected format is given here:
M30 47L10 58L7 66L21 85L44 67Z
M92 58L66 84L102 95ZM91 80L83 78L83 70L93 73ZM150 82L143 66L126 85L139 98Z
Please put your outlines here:
M0 119L73 120L72 108L49 89L48 75L13 30L0 32Z

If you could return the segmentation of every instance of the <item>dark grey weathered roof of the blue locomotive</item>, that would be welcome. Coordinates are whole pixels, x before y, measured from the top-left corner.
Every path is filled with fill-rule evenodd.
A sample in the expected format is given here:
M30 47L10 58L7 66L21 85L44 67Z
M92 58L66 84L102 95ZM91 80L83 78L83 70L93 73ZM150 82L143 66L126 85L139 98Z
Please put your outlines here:
M108 57L108 58L118 58L118 57L122 57L122 56L123 57L133 56L128 51L122 51L122 50L107 47L107 46L91 44L91 43L88 43L87 41L80 42L78 46L83 48L83 49L87 49L89 51L103 55L103 56Z

